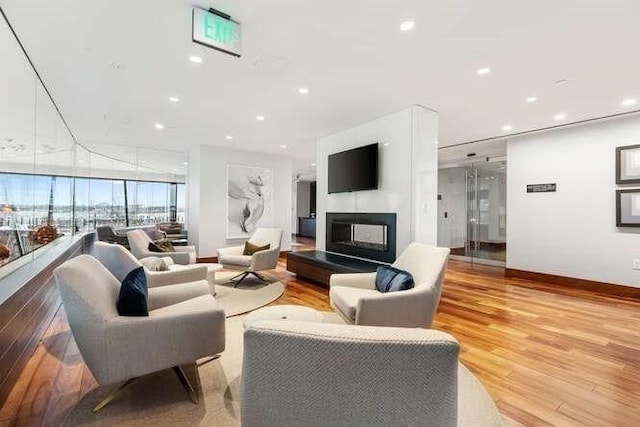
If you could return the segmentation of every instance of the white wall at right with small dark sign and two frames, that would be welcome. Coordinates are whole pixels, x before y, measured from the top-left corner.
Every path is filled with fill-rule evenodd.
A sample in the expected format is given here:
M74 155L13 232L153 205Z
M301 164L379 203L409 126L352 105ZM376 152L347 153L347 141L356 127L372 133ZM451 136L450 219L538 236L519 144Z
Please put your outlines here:
M640 287L640 235L615 221L615 147L638 141L638 116L509 141L507 267Z

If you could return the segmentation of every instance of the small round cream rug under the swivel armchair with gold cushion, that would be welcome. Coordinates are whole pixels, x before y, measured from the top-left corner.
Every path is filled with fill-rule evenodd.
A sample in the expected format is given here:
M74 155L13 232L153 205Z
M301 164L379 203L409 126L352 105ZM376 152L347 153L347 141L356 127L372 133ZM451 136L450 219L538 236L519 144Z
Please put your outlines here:
M281 282L264 283L254 278L247 278L239 286L233 287L229 279L235 272L216 273L216 301L227 317L248 313L280 298L284 293Z

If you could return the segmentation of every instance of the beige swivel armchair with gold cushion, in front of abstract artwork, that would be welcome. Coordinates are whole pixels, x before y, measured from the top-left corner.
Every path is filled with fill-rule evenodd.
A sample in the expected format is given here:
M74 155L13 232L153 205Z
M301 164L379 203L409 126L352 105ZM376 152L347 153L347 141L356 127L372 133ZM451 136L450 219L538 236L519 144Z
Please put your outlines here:
M218 263L222 264L224 268L242 270L242 273L231 279L236 286L249 274L265 281L265 278L258 271L276 268L280 257L281 242L281 229L257 228L249 239L249 243L257 246L264 246L268 243L269 249L256 252L253 255L242 255L244 245L218 249Z

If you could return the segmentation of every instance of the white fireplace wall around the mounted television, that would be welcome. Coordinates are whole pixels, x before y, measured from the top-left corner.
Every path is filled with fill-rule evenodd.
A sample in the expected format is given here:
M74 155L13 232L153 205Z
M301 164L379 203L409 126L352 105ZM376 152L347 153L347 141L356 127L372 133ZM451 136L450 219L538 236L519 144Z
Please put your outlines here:
M437 241L438 115L413 106L317 143L316 246L325 250L327 212L395 212L397 253L412 241ZM328 194L327 157L378 142L378 189Z

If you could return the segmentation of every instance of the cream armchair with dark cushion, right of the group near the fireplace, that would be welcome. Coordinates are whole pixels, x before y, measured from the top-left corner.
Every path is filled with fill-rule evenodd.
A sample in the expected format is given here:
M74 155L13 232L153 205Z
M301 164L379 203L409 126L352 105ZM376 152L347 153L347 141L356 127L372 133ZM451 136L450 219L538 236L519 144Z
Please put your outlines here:
M356 325L430 328L440 301L448 248L411 243L392 264L413 275L415 287L379 292L376 273L333 274L331 306Z

